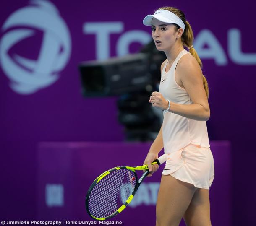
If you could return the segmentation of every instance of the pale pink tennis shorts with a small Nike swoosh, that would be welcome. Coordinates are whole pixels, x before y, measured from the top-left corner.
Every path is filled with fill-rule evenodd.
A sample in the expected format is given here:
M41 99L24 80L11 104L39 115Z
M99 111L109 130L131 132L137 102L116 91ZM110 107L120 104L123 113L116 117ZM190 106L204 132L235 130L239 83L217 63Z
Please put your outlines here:
M214 179L211 149L189 144L168 154L162 175L172 175L195 187L209 189Z

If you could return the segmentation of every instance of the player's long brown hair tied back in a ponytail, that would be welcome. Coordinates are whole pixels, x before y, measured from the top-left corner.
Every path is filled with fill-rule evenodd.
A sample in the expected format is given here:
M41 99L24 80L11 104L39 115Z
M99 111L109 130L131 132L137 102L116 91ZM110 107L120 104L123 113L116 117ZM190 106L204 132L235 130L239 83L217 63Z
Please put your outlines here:
M185 47L192 46L193 40L194 40L193 31L192 31L192 28L191 28L190 24L188 23L188 21L186 21L185 14L183 13L183 11L181 11L177 8L174 8L174 7L161 7L159 9L168 10L168 11L176 14L183 21L183 23L185 24L185 30L181 36L181 41ZM178 26L177 24L174 24L174 25L176 27L176 30L178 30L180 28L180 26ZM193 55L196 58L196 61L199 63L200 67L202 68L203 64L202 64L202 61L200 60L199 55L197 54L196 50L194 48L190 48L188 51L191 53L191 55ZM206 96L207 96L207 98L209 98L209 87L208 87L208 83L207 83L207 80L204 77L204 75L203 75L203 84L204 84L204 90L206 92Z

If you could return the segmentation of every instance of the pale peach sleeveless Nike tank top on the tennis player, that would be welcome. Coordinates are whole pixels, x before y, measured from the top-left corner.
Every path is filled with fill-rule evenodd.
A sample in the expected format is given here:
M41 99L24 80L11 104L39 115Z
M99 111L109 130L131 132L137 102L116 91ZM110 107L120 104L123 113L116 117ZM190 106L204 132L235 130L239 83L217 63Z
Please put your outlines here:
M171 102L178 104L193 104L187 91L180 87L175 81L175 68L180 58L190 54L183 49L176 57L168 72L165 72L167 60L162 70L159 92ZM172 104L170 109L172 109ZM206 121L197 121L186 117L166 112L164 114L162 135L165 153L169 154L178 151L189 144L199 145L201 148L209 148L209 138Z

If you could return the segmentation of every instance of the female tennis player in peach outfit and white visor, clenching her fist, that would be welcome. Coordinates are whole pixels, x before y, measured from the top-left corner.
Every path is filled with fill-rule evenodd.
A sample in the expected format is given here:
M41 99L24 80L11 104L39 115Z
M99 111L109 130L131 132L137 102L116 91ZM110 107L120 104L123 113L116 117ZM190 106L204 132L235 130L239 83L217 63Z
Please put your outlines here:
M209 187L214 179L206 121L210 117L208 84L193 47L193 31L184 13L163 7L148 15L156 48L167 59L161 66L159 92L149 102L164 114L162 127L144 164L150 175L158 165L151 162L165 149L168 154L157 198L157 226L210 226ZM188 51L184 49L188 47Z

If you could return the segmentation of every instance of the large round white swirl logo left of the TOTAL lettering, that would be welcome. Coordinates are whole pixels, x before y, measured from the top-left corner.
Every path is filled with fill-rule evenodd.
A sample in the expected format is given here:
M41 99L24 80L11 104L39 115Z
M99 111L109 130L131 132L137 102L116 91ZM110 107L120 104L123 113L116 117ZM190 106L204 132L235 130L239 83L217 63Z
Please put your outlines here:
M12 13L2 26L0 63L10 79L10 88L18 94L33 94L59 78L71 54L71 36L59 11L47 0L31 0L31 5ZM43 32L37 60L8 51L18 42ZM30 48L27 46L27 48Z

